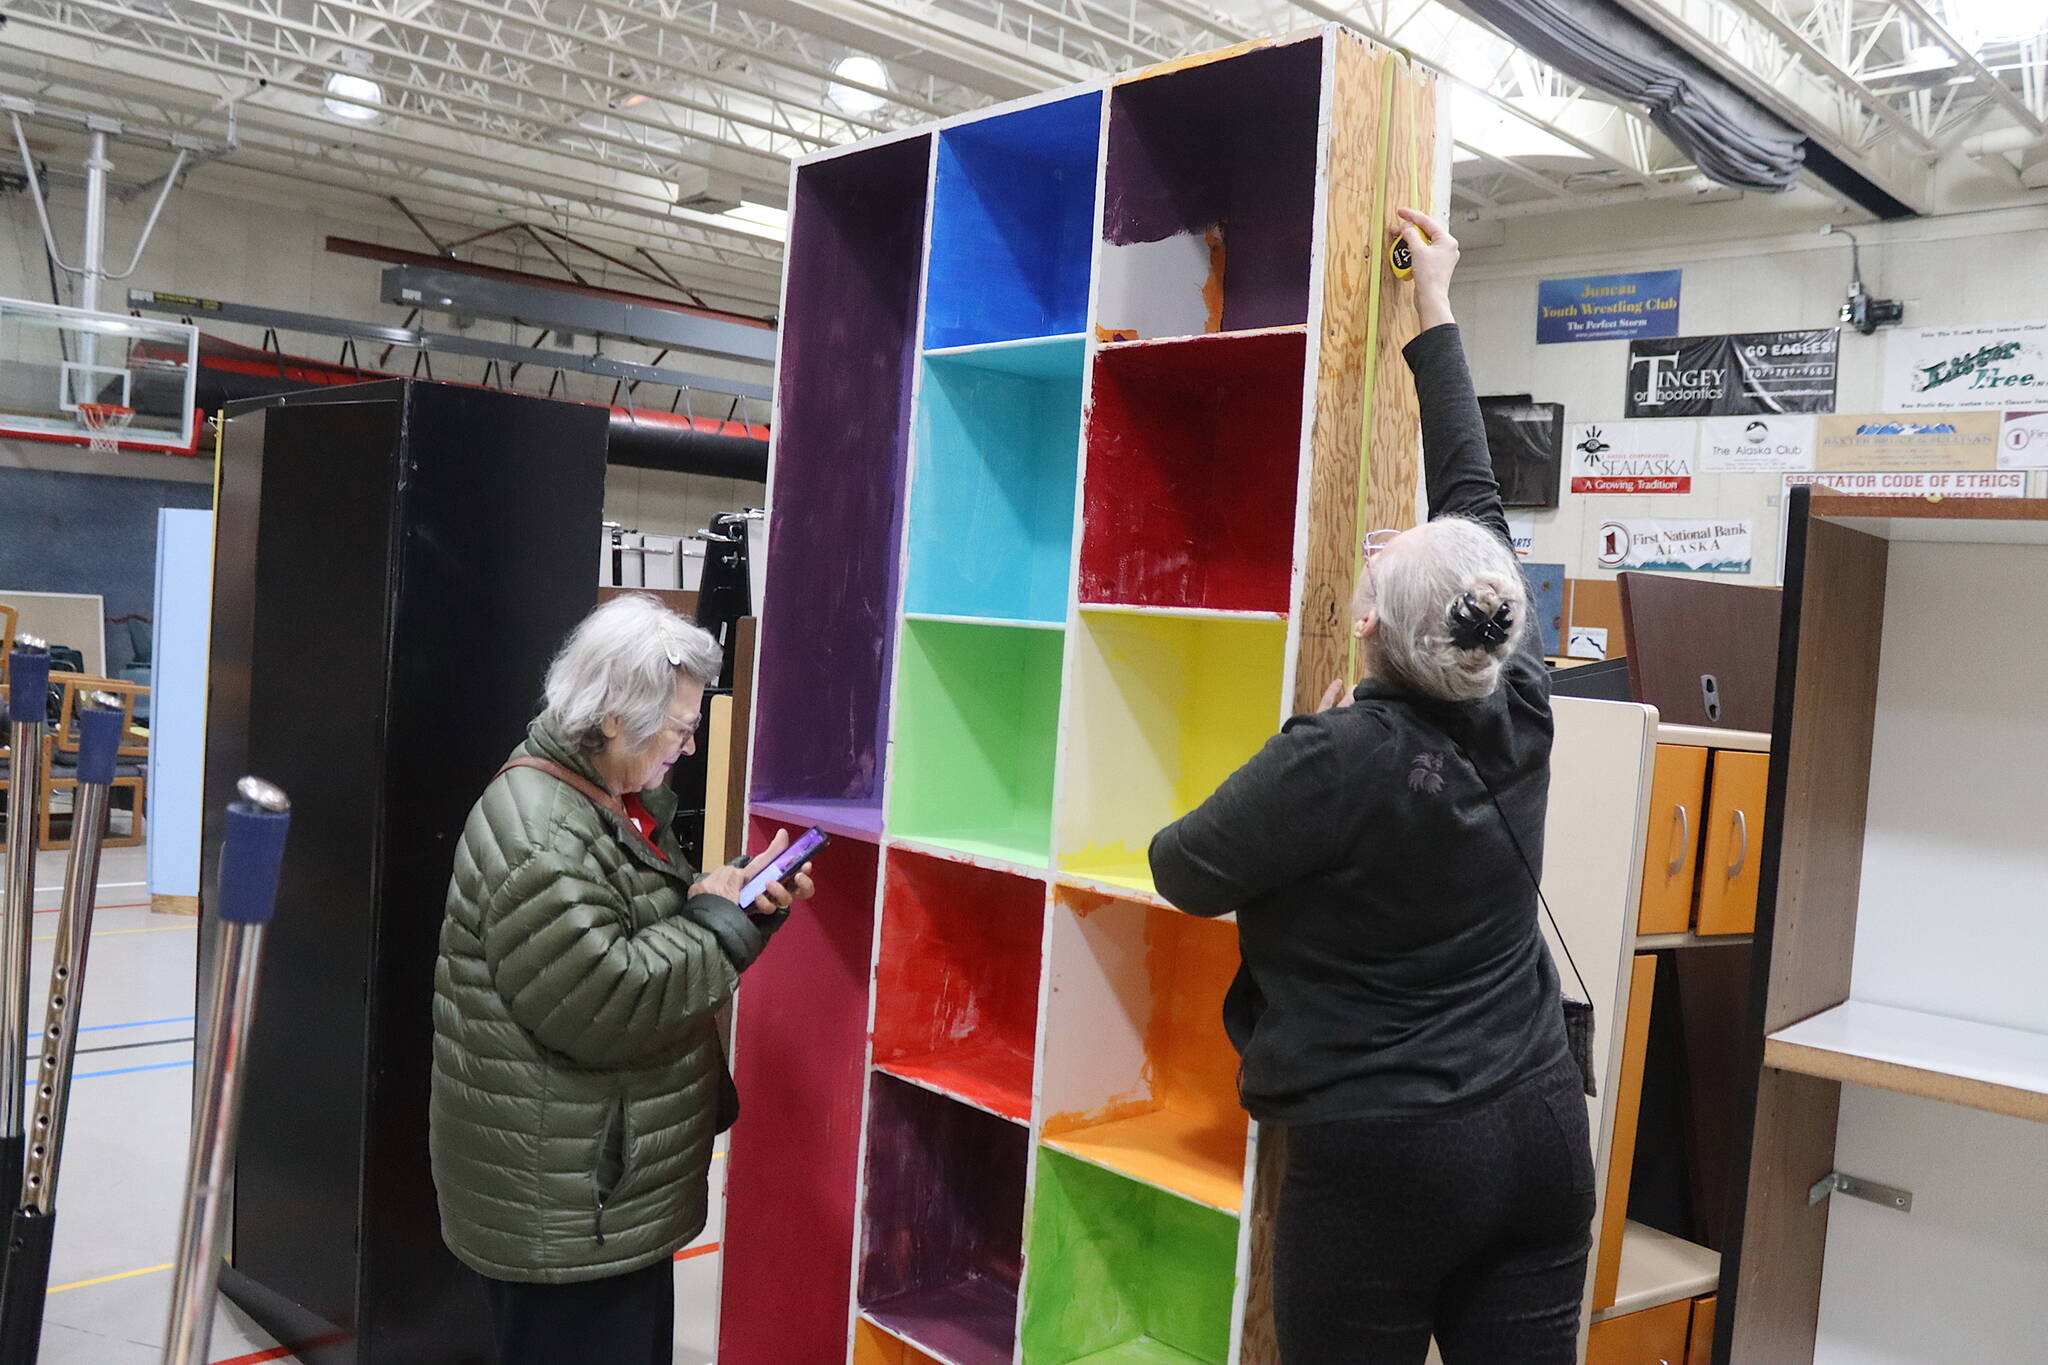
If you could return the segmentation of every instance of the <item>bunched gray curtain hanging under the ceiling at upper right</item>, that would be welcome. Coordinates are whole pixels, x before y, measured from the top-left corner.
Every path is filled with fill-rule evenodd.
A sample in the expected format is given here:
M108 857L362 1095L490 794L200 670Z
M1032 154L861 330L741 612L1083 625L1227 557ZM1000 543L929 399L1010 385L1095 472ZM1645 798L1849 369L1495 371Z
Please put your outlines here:
M1790 190L1804 135L1612 0L1460 0L1458 8L1573 80L1649 108L1712 180Z

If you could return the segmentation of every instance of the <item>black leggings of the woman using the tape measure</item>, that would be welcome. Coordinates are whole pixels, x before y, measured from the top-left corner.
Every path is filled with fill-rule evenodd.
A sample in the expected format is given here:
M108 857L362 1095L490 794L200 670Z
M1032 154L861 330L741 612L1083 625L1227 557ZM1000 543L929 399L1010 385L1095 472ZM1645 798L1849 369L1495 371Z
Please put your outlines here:
M1571 1060L1432 1115L1288 1130L1284 1365L1573 1365L1593 1152Z

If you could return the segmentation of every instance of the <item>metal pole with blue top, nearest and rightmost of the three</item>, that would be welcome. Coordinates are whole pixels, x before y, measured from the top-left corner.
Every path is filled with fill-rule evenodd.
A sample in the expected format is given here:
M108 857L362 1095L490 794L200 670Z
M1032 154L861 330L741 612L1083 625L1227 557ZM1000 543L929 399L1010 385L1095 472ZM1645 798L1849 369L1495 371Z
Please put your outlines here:
M170 1291L170 1326L164 1332L164 1365L207 1365L213 1300L221 1283L227 1173L242 1115L242 1054L256 1009L262 931L276 909L285 831L291 829L291 802L281 790L260 778L244 778L238 792L242 800L227 806L227 835L221 843L221 939L213 954L213 1005L193 1111L193 1152L184 1173L184 1224Z

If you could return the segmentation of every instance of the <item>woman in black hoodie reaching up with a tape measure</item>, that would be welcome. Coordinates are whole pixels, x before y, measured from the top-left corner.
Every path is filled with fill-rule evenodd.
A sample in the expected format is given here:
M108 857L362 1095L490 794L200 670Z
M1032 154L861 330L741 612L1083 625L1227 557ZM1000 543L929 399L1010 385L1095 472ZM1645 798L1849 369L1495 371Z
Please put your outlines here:
M1536 927L1550 679L1450 315L1403 209L1430 522L1374 532L1366 679L1159 831L1159 892L1237 911L1225 1027L1288 1130L1284 1365L1571 1365L1593 1218L1581 1074Z

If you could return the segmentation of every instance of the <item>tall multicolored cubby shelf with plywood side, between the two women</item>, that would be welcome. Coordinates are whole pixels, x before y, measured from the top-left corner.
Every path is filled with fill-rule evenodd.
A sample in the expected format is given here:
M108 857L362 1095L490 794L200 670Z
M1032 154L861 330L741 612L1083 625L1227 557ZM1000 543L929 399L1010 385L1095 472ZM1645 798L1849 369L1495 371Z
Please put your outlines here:
M723 1365L1274 1359L1235 927L1145 847L1415 518L1434 127L1319 29L797 166L752 839L836 841L741 993Z

